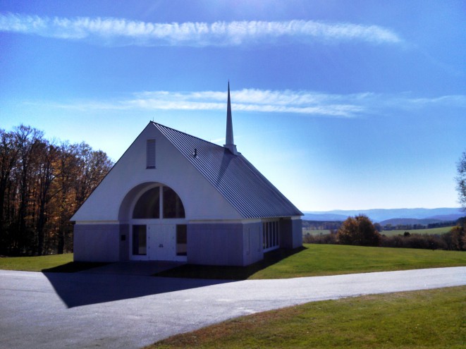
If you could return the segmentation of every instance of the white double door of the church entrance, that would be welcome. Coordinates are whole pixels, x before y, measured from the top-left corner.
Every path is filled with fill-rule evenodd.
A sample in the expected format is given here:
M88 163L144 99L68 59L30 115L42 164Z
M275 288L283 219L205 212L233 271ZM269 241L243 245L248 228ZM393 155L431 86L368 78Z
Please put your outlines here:
M176 259L176 225L147 225L147 257L149 260L173 261Z

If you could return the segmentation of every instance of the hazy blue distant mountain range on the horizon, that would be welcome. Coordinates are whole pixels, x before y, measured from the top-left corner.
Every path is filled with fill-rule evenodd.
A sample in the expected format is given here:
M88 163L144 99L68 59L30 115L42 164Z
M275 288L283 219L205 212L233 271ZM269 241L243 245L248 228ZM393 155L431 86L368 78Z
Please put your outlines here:
M302 219L307 221L344 221L348 216L365 214L374 222L387 221L388 219L422 219L432 221L455 221L466 216L466 212L460 208L439 209L359 209L333 211L304 211Z

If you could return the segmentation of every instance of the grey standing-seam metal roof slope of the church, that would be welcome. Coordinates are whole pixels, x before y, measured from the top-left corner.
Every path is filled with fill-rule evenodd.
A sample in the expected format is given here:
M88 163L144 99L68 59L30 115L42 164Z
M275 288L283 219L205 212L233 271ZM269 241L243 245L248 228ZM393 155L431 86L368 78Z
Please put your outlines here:
M152 124L244 218L302 216L242 154L159 123Z

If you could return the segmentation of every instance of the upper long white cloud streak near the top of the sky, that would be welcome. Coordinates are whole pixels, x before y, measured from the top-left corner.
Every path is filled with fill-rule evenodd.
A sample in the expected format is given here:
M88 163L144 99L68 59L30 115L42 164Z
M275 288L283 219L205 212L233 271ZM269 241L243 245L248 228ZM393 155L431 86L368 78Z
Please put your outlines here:
M106 45L238 46L256 42L399 43L392 30L378 25L326 23L314 20L282 22L147 23L125 18L49 18L20 13L0 14L0 31L59 39L87 40Z

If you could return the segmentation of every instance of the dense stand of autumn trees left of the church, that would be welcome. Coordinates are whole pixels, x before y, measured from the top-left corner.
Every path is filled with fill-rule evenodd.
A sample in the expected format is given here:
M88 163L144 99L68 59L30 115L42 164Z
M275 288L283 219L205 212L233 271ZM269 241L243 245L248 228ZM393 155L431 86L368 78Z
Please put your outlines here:
M47 140L25 125L0 129L0 255L72 251L70 218L112 166L84 142Z

